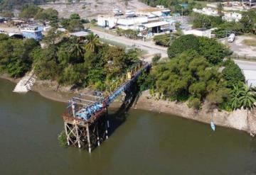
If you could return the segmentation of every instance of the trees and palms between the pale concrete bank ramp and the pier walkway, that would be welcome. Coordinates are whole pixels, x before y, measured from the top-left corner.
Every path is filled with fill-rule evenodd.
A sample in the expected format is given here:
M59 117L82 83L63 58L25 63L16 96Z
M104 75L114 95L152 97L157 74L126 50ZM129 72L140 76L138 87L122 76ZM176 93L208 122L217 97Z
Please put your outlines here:
M33 59L35 72L41 79L57 79L60 84L92 85L102 90L138 58L134 50L125 52L120 47L102 44L91 34L86 44L78 38L64 38L45 50L35 50Z

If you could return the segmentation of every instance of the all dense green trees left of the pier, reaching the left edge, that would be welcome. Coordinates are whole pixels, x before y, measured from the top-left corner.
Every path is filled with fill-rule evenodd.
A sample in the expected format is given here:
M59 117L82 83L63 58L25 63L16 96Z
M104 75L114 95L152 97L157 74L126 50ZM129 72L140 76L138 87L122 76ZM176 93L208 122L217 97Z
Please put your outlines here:
M33 67L40 79L103 90L138 61L136 50L126 52L103 44L93 34L83 43L52 30L43 40L48 45L45 49L32 39L18 40L1 34L0 40L0 70L11 77L22 77Z

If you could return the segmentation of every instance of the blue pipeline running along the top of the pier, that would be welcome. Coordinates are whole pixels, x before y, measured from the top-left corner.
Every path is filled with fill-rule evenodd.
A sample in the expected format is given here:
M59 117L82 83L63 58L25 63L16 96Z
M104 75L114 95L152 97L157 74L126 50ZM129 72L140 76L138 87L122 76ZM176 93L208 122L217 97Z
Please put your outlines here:
M146 64L144 69L148 69L148 68L149 68L149 64ZM84 120L89 120L90 117L92 115L94 115L97 111L102 111L103 108L105 108L106 106L109 106L110 103L112 103L117 98L117 96L122 94L123 91L127 90L129 88L130 84L133 81L137 80L141 74L142 74L142 70L139 70L136 74L134 74L134 76L132 77L131 80L127 81L125 84L120 86L116 91L114 91L114 93L112 93L112 94L110 94L110 96L106 97L104 101L97 101L94 104L92 104L91 106L87 106L86 108L78 111L77 113L75 113L75 115L77 115L78 118L82 118ZM69 104L69 106L70 106L70 104Z

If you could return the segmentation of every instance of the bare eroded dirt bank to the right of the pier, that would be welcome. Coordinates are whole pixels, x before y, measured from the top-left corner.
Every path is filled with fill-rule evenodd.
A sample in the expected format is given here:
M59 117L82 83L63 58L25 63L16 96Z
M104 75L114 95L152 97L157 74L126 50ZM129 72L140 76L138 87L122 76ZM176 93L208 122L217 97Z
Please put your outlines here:
M186 103L176 103L173 101L163 101L151 98L148 91L144 91L142 96L139 97L134 108L155 111L159 113L169 113L172 115L181 116L192 120L197 120L203 123L210 123L211 120L215 125L220 125L227 128L234 128L237 130L244 130L251 135L256 134L256 111L248 112L247 124L247 111L236 110L233 112L218 111L213 109L209 111L207 106L204 105L200 111L193 108L188 108ZM218 130L218 129L217 129Z

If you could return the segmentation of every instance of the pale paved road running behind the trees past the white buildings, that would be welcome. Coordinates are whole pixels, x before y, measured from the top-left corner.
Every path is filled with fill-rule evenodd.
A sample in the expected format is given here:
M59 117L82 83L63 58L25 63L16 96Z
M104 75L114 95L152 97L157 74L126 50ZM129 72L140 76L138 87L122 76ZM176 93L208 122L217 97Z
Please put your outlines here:
M167 57L167 48L154 45L153 42L143 42L142 40L131 40L129 38L119 37L119 36L105 33L99 30L95 30L93 28L91 30L93 33L99 35L100 38L104 38L106 40L112 40L116 43L122 43L123 45L128 45L128 46L136 45L140 49L146 50L147 51L146 55L148 55L149 57L157 53L160 53L162 57ZM256 62L235 60L235 63L238 64L240 69L256 71Z

